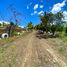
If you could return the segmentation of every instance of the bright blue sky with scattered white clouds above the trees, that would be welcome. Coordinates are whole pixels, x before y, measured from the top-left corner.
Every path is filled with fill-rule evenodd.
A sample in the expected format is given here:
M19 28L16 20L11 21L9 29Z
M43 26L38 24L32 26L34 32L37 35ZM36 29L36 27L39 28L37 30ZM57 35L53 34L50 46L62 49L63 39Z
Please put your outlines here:
M67 0L0 0L0 21L8 21L12 16L10 5L21 13L20 26L26 26L30 21L34 25L39 24L39 15L43 15L45 11L54 14L63 11L64 21L67 21Z

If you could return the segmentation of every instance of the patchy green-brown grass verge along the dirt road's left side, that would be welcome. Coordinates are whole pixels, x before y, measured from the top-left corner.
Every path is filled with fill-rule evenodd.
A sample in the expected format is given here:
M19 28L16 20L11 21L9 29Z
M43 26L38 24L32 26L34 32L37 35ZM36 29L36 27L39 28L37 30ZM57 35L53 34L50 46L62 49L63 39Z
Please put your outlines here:
M18 47L16 45L13 45L12 42L17 40L18 38L23 38L28 34L29 32L25 32L20 36L14 36L0 40L0 67L15 67L17 65L16 58L18 59L18 55L16 50Z

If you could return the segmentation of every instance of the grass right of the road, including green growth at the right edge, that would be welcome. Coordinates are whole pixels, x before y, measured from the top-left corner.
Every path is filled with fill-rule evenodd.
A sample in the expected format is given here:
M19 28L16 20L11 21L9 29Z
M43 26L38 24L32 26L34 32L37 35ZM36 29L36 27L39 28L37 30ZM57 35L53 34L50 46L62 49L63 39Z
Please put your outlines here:
M64 32L60 32L58 38L48 39L48 42L62 59L67 60L67 35Z

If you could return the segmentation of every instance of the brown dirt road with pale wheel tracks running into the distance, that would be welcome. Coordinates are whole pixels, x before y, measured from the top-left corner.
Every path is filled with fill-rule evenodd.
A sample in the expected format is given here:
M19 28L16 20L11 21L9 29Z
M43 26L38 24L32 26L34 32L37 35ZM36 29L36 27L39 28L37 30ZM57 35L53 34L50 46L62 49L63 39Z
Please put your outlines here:
M45 39L36 37L36 32L6 46L4 53L6 55L0 56L4 58L0 61L0 67L67 67Z

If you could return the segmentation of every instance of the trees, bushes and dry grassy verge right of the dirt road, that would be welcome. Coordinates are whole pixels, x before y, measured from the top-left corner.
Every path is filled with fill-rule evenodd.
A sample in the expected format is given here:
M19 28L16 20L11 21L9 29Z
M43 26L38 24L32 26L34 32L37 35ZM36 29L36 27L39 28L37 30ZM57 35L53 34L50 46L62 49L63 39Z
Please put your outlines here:
M45 38L47 43L58 52L60 57L67 59L67 22L64 19L63 12L44 13L40 16L41 23L35 26L39 31L39 38Z

